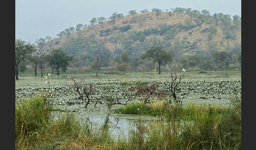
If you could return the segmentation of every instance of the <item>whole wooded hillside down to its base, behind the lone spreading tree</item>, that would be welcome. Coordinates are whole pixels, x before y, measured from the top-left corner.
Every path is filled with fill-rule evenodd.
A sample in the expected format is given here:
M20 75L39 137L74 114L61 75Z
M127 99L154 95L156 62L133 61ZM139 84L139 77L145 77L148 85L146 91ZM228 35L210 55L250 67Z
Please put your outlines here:
M241 67L241 17L210 15L208 10L153 8L129 15L113 13L110 18L93 18L91 25L65 29L46 42L47 49L63 47L73 55L70 67L90 67L101 56L101 67L116 70L157 69L142 54L161 45L173 56L164 69L225 69Z

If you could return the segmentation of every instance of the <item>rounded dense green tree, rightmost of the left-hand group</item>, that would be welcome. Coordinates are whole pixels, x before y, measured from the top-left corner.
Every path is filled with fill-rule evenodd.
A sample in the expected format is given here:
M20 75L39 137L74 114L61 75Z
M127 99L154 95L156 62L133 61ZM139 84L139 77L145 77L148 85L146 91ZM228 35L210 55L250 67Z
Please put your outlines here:
M67 52L62 47L59 47L50 51L46 55L46 59L49 65L57 72L57 75L59 75L60 69L65 71L68 66L68 61L71 61L73 56L68 56Z

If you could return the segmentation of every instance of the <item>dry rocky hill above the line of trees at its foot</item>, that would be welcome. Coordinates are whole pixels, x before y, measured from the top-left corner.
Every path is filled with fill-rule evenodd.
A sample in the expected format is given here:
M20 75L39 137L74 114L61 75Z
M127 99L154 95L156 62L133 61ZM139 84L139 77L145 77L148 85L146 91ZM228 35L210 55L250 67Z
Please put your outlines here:
M222 13L211 16L206 10L190 8L175 8L170 12L152 9L127 16L114 13L104 22L92 22L81 30L62 31L60 38L47 42L47 48L63 47L77 59L87 59L84 65L90 65L97 51L109 58L120 56L122 51L127 51L130 58L140 58L154 44L162 45L174 58L210 56L216 51L238 56L241 18L232 19Z

